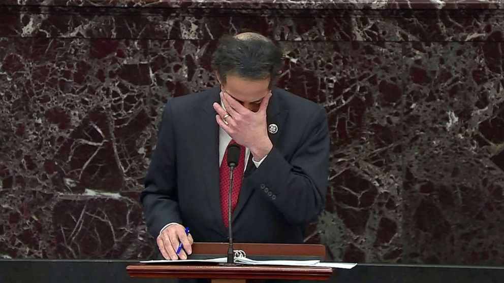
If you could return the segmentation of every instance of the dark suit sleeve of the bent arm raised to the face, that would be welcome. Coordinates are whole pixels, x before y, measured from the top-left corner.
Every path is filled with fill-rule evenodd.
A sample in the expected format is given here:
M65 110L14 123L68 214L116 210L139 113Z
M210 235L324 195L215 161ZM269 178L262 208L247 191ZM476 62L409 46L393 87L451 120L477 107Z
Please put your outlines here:
M325 110L317 110L290 161L273 147L261 166L248 176L258 193L293 225L315 220L325 207L329 130Z

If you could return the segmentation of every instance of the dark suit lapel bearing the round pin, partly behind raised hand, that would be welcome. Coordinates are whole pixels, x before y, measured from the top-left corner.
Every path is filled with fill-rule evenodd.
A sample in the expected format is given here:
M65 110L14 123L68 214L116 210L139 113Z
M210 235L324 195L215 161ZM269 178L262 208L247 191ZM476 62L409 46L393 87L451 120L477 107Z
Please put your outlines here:
M285 118L287 117L287 110L282 109L279 94L278 93L275 94L276 92L275 89L276 88L273 88L272 90L273 95L270 98L268 109L266 110L266 126L269 127L269 125L275 124L278 128L278 131L276 133L270 133L270 131L268 131L268 136L271 140L271 143L273 144L273 147L278 146L277 140L282 133L282 126L285 121ZM238 203L236 204L236 208L233 211L232 216L233 221L239 215L240 211L243 209L246 202L248 201L248 199L255 190L255 188L251 187L247 183L247 177L250 174L252 174L255 170L256 165L254 165L254 162L252 161L252 155L250 154L247 169L245 170L245 173L243 175L244 177L243 184L241 186L240 196L238 197Z

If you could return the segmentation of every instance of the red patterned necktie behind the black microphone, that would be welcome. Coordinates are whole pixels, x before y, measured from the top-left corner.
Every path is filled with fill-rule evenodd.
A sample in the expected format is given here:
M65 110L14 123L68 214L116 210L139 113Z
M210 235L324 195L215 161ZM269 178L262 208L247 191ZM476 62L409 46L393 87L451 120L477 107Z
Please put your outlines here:
M228 144L236 144L234 140L231 140ZM233 171L233 190L231 191L231 213L236 208L238 203L238 196L240 195L241 183L243 180L243 171L245 169L245 148L240 147L240 161L238 166L235 167ZM228 148L226 147L226 152L224 153L224 158L222 163L220 163L220 211L222 213L222 220L224 221L224 226L228 228L228 197L229 197L229 176L231 170L228 166Z

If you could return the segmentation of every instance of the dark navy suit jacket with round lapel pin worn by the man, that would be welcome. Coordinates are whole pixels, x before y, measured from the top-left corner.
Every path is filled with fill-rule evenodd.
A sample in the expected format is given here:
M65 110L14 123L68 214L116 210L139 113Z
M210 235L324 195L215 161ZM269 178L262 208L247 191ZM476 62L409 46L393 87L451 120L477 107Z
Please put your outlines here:
M267 124L273 149L256 168L249 160L234 210L235 242L300 243L304 225L325 207L329 133L323 107L273 88ZM141 201L148 231L177 222L195 241L225 242L220 213L219 88L166 103ZM250 155L251 158L251 155Z

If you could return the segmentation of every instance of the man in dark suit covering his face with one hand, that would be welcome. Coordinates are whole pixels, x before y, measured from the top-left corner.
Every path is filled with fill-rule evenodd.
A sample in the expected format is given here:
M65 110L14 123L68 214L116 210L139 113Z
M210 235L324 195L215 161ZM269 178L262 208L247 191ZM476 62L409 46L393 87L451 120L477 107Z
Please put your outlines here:
M212 57L220 86L166 103L141 194L165 259L185 259L193 240L228 240L230 144L240 146L232 189L236 242L301 243L304 225L324 208L327 115L272 87L281 56L260 34L225 37Z

